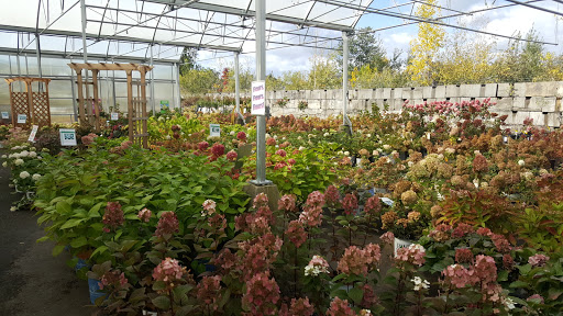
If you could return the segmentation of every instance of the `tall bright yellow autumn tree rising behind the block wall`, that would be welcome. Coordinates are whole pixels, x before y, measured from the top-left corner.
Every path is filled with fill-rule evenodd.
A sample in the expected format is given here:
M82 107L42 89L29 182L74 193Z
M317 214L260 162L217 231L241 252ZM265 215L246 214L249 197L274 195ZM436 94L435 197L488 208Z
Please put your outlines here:
M417 8L416 15L431 20L440 15L440 8L434 7L437 0L426 0ZM430 86L433 81L432 61L442 46L445 32L441 25L432 23L419 23L418 36L410 42L410 61L407 72L413 82L421 86Z

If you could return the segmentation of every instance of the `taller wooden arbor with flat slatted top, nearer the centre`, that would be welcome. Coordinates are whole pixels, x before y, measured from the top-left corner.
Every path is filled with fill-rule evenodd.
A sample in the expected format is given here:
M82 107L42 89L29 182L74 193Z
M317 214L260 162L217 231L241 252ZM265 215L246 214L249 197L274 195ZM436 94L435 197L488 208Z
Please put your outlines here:
M122 70L128 75L128 117L129 117L129 140L148 147L148 131L146 112L146 72L153 67L139 64L68 64L76 71L78 84L78 115L80 125L89 124L97 132L100 131L100 102L98 99L98 72L100 70ZM82 70L91 71L88 78L91 82L82 80ZM133 95L133 71L141 74L141 80L135 82L136 97ZM90 98L89 84L92 86L92 97Z

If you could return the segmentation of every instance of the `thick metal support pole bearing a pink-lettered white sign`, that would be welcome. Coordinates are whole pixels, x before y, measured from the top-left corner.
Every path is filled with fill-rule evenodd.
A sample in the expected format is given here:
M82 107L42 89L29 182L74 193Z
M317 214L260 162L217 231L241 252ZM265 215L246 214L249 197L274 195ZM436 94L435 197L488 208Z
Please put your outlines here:
M266 79L266 1L256 0L254 3L256 12L256 81L260 81ZM266 115L256 116L256 180L251 182L256 185L272 184L272 181L266 180Z

